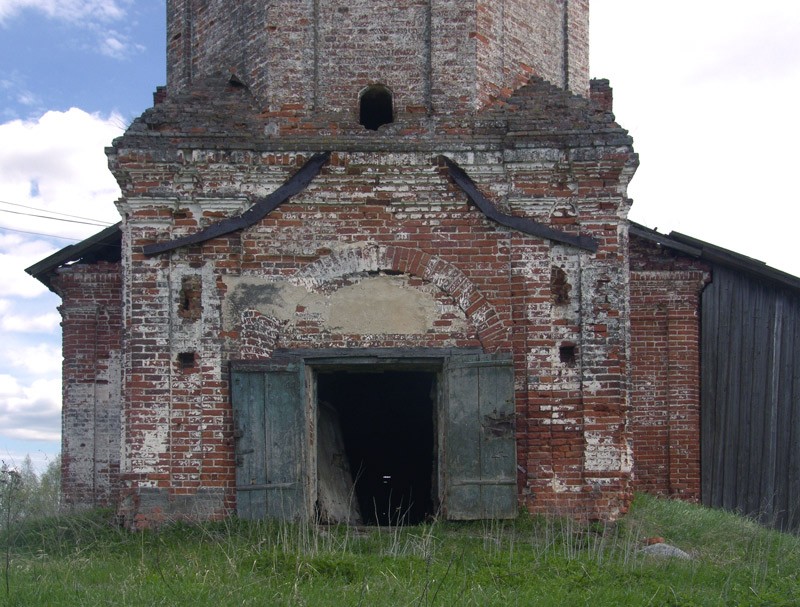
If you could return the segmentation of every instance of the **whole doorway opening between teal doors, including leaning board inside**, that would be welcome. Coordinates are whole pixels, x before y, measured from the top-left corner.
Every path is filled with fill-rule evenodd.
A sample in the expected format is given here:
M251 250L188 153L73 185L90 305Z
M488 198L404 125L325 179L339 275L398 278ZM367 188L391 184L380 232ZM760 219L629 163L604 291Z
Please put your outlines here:
M317 372L317 510L326 522L434 514L436 373Z

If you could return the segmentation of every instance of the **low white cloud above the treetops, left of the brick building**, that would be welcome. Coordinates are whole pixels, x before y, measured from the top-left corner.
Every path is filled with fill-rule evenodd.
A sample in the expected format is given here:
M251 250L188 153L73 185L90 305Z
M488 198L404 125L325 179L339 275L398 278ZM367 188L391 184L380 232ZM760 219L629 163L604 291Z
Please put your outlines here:
M0 436L55 441L60 426L60 378L23 385L11 375L0 375Z

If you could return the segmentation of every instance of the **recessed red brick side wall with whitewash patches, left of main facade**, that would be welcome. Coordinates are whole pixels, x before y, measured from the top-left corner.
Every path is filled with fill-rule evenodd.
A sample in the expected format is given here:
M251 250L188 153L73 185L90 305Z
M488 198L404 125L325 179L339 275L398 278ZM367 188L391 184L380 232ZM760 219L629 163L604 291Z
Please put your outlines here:
M53 279L63 304L61 490L64 506L115 506L119 492L122 276L75 264Z

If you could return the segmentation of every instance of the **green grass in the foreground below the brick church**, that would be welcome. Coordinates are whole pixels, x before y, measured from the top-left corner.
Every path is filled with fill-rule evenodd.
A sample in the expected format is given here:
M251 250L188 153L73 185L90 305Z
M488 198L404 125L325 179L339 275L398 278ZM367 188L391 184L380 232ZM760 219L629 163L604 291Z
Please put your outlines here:
M800 605L800 538L646 496L613 526L229 520L130 533L107 521L16 529L0 605ZM651 536L694 559L642 555Z

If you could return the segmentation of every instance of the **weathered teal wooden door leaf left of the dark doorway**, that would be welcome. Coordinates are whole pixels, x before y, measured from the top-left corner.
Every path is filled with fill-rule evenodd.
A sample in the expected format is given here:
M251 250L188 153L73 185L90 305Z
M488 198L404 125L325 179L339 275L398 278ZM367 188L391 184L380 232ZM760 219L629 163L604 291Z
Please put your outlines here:
M234 370L231 397L237 514L244 519L306 518L302 362Z

